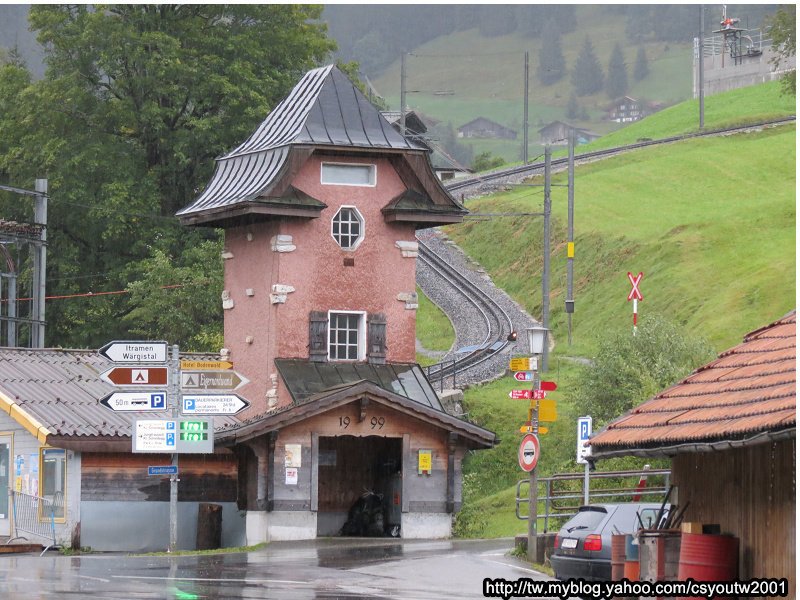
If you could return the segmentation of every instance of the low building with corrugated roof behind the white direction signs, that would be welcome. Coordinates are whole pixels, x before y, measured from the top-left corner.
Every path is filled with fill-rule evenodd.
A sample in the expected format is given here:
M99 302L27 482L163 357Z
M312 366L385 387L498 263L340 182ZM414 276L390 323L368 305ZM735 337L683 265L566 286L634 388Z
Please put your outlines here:
M170 413L115 412L101 405L116 391L101 378L111 366L92 350L0 348L0 538L18 535L46 544L39 535L52 536L46 516L34 514L31 522L20 512L41 498L56 506L58 545L120 552L169 546L169 475L148 475L148 467L169 465L172 457L132 453L131 427L135 418ZM215 418L221 428L237 422ZM202 503L221 507L223 545L244 544L237 467L236 455L223 447L181 456L178 549L195 548Z

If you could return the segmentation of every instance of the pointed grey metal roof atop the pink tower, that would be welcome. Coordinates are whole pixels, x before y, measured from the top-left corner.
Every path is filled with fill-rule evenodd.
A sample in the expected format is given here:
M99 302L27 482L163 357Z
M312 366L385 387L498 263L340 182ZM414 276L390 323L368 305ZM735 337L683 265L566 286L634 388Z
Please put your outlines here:
M191 223L200 214L280 196L271 188L291 165L297 146L426 152L400 135L344 73L328 65L306 73L247 140L219 157L206 189L177 215Z

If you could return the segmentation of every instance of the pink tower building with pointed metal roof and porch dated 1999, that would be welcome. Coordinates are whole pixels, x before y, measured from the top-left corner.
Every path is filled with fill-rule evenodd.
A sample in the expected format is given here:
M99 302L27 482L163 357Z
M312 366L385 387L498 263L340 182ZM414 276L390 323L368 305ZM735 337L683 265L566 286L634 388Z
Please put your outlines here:
M248 543L346 530L365 490L402 537L446 537L461 460L492 432L446 413L415 364L415 231L466 210L335 66L308 72L179 211L225 229L225 345Z

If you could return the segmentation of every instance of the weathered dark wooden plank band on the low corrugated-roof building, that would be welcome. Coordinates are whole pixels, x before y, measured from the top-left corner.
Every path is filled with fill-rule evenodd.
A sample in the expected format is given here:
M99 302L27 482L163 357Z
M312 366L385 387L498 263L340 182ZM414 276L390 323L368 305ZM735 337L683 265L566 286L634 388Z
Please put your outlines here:
M169 501L169 476L149 476L148 466L169 465L161 454L85 453L81 499ZM182 454L178 460L179 502L236 502L237 458L233 454Z

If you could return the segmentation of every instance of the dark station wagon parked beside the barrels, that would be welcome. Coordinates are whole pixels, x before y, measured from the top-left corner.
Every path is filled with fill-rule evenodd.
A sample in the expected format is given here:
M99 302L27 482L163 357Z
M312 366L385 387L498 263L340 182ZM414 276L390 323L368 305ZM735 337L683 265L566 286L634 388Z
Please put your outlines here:
M611 535L634 533L641 527L639 519L653 526L660 509L660 503L641 502L581 506L556 536L550 557L556 578L609 581Z

